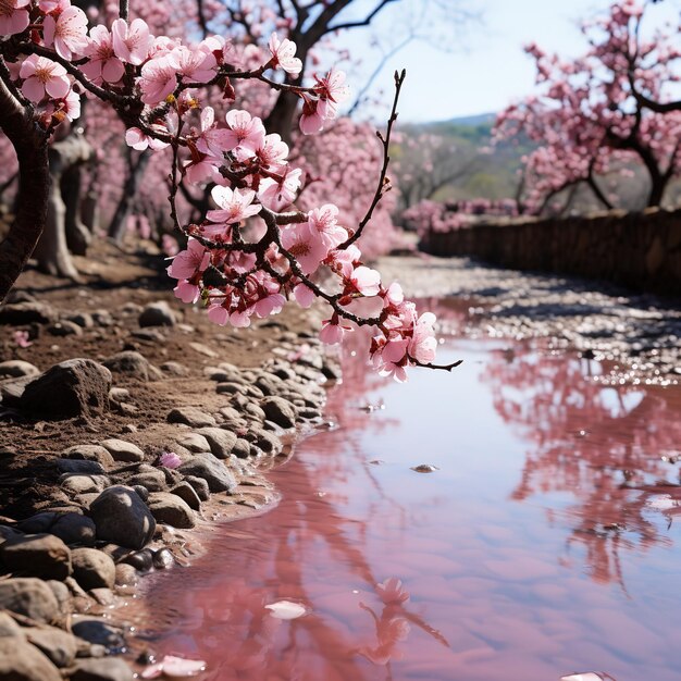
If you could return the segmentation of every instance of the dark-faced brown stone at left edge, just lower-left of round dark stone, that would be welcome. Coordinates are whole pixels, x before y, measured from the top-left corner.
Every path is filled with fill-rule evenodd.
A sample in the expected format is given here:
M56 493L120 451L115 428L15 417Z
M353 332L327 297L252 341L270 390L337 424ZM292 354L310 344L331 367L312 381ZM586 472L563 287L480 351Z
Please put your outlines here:
M0 561L26 577L65 580L72 571L71 550L52 534L27 534L0 545Z

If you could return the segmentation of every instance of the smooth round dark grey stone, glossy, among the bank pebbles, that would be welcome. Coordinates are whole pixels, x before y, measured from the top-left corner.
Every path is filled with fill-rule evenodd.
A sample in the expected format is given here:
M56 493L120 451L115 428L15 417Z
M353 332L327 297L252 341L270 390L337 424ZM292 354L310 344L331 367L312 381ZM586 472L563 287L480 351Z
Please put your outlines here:
M146 504L129 487L114 485L91 504L97 537L127 548L143 548L151 541L156 520Z

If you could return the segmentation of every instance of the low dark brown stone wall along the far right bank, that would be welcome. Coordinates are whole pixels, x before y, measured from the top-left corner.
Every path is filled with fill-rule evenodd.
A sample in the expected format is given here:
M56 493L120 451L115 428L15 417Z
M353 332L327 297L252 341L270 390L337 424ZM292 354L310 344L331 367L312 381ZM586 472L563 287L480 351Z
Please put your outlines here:
M431 233L419 248L518 270L573 274L681 297L681 210L481 223Z

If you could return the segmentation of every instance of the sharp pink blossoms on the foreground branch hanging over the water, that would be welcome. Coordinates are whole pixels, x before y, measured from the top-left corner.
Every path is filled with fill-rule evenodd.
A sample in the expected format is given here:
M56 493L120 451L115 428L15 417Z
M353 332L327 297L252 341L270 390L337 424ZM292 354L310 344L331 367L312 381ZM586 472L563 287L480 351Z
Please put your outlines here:
M300 129L311 134L335 117L347 97L342 72L315 76L309 87L282 82L302 64L295 44L276 34L264 63L244 65L221 36L184 45L153 36L141 18L121 17L110 28L88 30L86 14L70 0L2 0L1 7L0 39L16 38L14 54L0 54L17 96L30 102L42 125L51 129L77 117L85 91L117 112L128 146L172 151L171 210L187 237L168 269L178 298L200 300L213 322L242 327L253 317L276 314L289 298L304 307L321 299L330 307L323 342L337 344L356 326L370 326L370 357L382 374L404 381L407 367L433 363L434 315L419 315L397 283L385 286L362 262L355 242L363 226L339 224L333 203L298 210L301 170L292 166L281 136L268 134L262 120L244 109L232 108L219 121L199 96L219 88L234 101L238 79L288 87L302 100ZM182 224L177 215L179 183L214 185L215 208L198 224Z

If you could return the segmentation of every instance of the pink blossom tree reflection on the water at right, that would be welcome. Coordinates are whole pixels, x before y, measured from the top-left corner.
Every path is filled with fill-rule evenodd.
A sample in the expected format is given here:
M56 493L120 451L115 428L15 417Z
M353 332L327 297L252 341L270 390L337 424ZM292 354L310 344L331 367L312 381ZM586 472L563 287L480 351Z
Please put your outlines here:
M594 580L624 586L623 550L669 543L649 511L655 495L681 498L681 401L659 386L602 385L602 374L593 360L518 345L492 354L484 380L496 411L530 443L511 498L569 494L547 510L552 525L570 525L566 562L582 553Z

